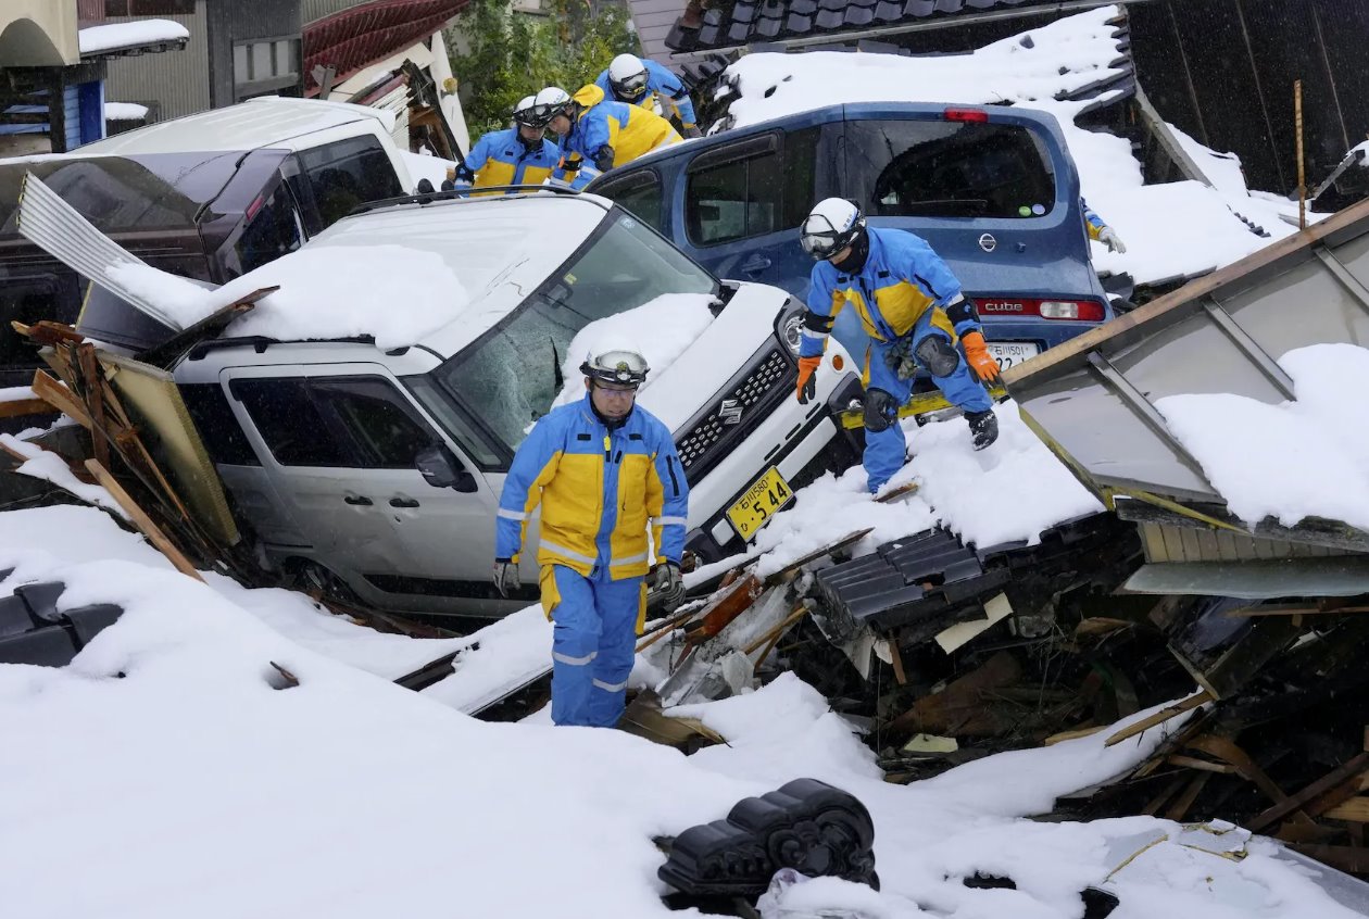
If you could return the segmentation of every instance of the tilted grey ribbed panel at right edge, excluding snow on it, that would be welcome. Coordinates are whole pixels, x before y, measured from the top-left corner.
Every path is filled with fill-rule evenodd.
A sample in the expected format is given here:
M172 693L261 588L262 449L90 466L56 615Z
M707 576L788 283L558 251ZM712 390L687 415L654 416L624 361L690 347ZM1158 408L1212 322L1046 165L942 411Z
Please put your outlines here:
M1005 381L1027 423L1109 505L1131 494L1190 516L1205 507L1224 514L1155 400L1292 399L1277 364L1285 352L1369 347L1366 285L1369 201L1013 367Z

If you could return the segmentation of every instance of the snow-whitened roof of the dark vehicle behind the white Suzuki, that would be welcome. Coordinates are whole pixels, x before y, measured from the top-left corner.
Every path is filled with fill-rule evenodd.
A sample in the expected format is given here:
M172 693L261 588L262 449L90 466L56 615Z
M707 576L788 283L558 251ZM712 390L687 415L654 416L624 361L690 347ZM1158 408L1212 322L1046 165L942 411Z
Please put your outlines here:
M318 99L263 96L214 108L84 145L81 155L177 153L183 151L249 151L296 147L307 134L372 119L389 131L390 112Z

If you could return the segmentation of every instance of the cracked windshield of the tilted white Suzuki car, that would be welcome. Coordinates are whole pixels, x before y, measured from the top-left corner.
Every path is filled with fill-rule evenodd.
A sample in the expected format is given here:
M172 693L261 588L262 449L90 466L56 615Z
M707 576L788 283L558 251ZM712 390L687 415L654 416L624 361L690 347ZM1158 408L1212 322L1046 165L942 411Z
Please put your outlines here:
M615 211L550 278L498 326L434 373L511 451L564 385L571 338L605 316L663 293L717 293L717 279L652 230Z

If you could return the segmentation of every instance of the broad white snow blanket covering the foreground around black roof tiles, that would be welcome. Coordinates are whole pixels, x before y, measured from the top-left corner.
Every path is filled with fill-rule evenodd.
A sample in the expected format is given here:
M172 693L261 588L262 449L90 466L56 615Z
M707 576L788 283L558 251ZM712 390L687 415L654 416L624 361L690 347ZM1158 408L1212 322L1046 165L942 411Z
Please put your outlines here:
M0 514L0 531L18 537L0 540L0 568L29 559L33 574L34 553L48 552L62 559L48 571L67 585L60 608L125 608L67 667L0 666L0 782L22 789L0 804L14 915L235 916L274 904L264 915L352 919L459 903L479 916L665 919L678 914L660 900L665 856L653 840L799 777L869 809L882 881L878 893L813 881L790 904L806 901L808 915L860 907L912 919L936 904L947 915L1071 919L1086 885L1136 915L1357 915L1281 861L1273 841L1250 840L1251 857L1236 860L1183 845L1179 827L1153 818L1020 819L1132 768L1183 718L1110 748L1103 730L908 786L884 782L850 725L791 674L680 709L727 738L691 756L612 730L489 725L253 615L300 603L294 594L251 592L259 609L249 611L94 516ZM483 645L498 627L472 638ZM542 641L545 656L545 630ZM274 689L271 663L298 685ZM131 830L111 842L110 827ZM1146 859L1110 875L1142 848ZM70 882L73 864L81 883ZM979 870L1010 874L1017 889L967 887Z

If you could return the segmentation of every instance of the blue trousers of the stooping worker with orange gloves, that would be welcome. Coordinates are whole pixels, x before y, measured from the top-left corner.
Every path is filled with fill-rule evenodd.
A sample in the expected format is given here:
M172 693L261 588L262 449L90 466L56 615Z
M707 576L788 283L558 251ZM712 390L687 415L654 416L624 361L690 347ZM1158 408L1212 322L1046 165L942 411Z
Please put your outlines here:
M927 336L941 336L946 341L950 341L950 336L931 325L934 312L935 310L924 312L913 325L912 331L908 333L910 338L909 352L916 351L919 342ZM865 427L865 455L861 460L869 477L871 494L873 494L894 473L904 467L908 440L904 436L902 426L898 423L897 411L898 405L906 403L912 394L913 378L899 379L895 373L897 368L890 367L888 360L886 360L886 355L890 351L899 348L898 341L875 341L873 338L867 338L867 341L869 344L865 349L865 392L869 393L871 389L882 389L894 397L893 407L886 414L886 418L891 418L888 427L882 431L872 431L868 426ZM953 405L958 405L961 411L982 412L988 411L993 405L993 401L988 399L988 390L979 382L975 371L969 368L964 355L960 355L954 370L945 377L932 377L932 382L942 390L946 400Z

